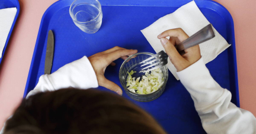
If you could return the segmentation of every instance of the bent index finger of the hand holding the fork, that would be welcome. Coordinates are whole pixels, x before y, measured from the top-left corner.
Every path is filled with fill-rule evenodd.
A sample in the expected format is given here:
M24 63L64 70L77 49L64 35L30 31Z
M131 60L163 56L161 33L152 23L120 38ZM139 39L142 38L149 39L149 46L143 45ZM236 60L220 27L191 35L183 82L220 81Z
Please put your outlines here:
M188 35L181 28L175 28L172 30L164 31L158 35L158 38L161 39L161 38L165 38L168 36L169 37L177 37L178 40L180 40L181 42L188 38Z

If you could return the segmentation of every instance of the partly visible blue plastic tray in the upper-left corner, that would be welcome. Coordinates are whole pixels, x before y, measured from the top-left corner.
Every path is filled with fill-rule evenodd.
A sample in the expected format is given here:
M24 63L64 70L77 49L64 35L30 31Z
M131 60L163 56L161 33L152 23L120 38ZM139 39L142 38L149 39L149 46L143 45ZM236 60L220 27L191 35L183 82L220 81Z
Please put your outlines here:
M14 8L14 7L17 8L17 13L15 15L14 22L12 23L11 30L9 31L9 34L8 34L4 50L2 52L2 57L0 58L0 64L2 62L2 58L4 57L4 53L5 53L5 50L7 48L9 38L11 37L11 33L12 33L13 28L14 28L15 22L16 22L16 20L18 18L19 13L20 13L20 3L18 2L18 0L0 0L0 9Z

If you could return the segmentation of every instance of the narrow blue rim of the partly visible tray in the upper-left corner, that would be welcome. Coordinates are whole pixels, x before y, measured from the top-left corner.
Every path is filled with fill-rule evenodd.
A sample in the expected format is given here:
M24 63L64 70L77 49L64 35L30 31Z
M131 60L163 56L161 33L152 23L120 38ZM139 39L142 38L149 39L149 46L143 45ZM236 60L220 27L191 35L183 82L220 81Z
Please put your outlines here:
M16 5L13 2L12 2L12 4L14 4L15 7L17 8L17 12L15 14L14 21L12 22L11 29L10 29L9 34L7 36L7 41L5 42L5 46L4 46L4 49L2 51L2 57L0 58L0 66L1 66L2 60L4 59L3 57L5 55L5 50L7 49L7 46L8 46L8 43L9 43L9 39L11 38L12 31L14 30L16 21L18 19L19 14L20 14L20 2L18 0L15 0L15 2L16 2Z

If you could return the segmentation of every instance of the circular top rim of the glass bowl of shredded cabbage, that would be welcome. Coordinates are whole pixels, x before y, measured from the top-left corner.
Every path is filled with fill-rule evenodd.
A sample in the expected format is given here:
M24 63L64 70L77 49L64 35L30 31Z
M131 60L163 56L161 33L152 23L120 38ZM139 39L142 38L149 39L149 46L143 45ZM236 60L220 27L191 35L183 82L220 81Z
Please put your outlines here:
M121 83L121 69L123 69L124 64L126 63L127 60L130 60L132 57L134 57L135 55L139 55L139 54L146 54L146 55L154 55L153 53L149 53L149 52L140 52L140 53L136 53L133 55L130 55L126 60L123 61L123 63L121 64L120 70L119 70L119 81ZM168 68L166 66L163 66L166 70L167 70L167 76L166 79L164 81L164 84L162 84L161 87L159 87L159 89L161 89L163 86L165 86L167 84L167 80L168 80ZM123 89L128 91L129 93L135 95L135 96L151 96L151 94L155 94L158 93L160 90L156 90L153 93L149 93L149 94L137 94L137 93L133 93L132 91L130 91L129 89L127 89L126 85L123 85L123 83L121 83L121 86L123 86Z

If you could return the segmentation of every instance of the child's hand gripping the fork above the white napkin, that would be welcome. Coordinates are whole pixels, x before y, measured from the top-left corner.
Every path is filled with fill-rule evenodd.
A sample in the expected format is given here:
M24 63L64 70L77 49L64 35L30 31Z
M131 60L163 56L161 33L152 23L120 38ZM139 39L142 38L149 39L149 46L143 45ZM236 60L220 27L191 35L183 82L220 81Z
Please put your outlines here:
M170 38L168 40L165 37ZM181 28L164 31L158 35L158 38L161 39L161 43L177 71L184 70L201 58L199 45L187 48L184 55L178 53L175 45L188 38L188 35Z

